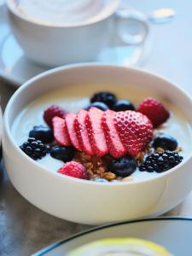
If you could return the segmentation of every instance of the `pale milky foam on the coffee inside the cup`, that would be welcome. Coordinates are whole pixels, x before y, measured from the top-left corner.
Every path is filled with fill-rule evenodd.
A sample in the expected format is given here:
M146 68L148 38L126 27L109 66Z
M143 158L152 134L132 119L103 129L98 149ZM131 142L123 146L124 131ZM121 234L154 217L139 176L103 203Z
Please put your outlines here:
M30 20L51 25L90 21L108 12L113 0L12 0L15 9Z

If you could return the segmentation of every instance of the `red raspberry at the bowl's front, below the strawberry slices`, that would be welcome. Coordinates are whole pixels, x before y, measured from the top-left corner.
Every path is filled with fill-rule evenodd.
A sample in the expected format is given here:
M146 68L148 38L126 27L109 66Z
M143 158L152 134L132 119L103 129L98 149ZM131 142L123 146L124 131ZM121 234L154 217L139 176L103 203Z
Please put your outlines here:
M58 172L71 177L88 178L84 166L75 161L68 162L66 165L62 166Z

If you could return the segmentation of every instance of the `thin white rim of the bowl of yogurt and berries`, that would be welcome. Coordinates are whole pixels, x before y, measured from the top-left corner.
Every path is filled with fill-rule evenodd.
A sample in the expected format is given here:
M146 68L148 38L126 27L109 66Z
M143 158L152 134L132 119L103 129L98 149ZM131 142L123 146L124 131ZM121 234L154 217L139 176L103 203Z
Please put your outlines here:
M84 180L84 179L80 179L80 178L75 178L75 177L70 177L67 175L61 175L60 173L57 172L49 172L49 170L42 166L41 164L39 164L37 161L32 160L29 156L27 156L24 152L22 152L22 150L19 148L19 146L15 143L15 139L11 134L11 129L9 126L9 112L11 112L11 108L13 105L13 102L15 102L15 99L20 96L20 92L23 90L27 90L27 88L29 86L31 86L31 84L33 84L34 82L38 81L38 79L42 79L45 78L49 75L54 75L55 73L60 73L69 69L73 69L73 68L87 68L87 67L99 67L99 68L117 68L117 69L124 69L125 71L130 71L132 72L136 72L136 73L143 73L143 75L149 75L154 77L154 79L160 79L162 82L168 83L170 84L174 90L177 90L179 93L183 94L183 96L185 96L186 98L188 98L189 102L191 102L192 105L192 97L189 96L189 94L183 90L182 88L178 87L176 84L172 84L171 81L169 81L168 79L165 79L159 75L157 75L156 73L151 73L148 70L144 69L144 68L138 68L138 67L125 67L125 66L119 66L119 65L113 65L113 64L100 64L100 63L90 63L90 62L84 62L84 63L78 63L78 64L69 64L66 66L61 66L61 67L55 67L53 69L49 69L48 71L45 71L44 73L40 73L37 76L33 77L32 79L29 79L28 81L26 81L26 83L22 84L20 86L20 88L18 90L15 91L14 95L11 96L11 98L9 99L9 102L7 104L7 107L5 108L5 112L3 115L3 138L5 137L5 134L7 135L8 139L9 139L9 143L12 145L12 147L15 148L15 151L17 152L17 154L20 154L21 158L24 158L25 160L27 160L29 162L29 164L32 164L33 166L36 166L39 171L38 172L46 172L47 175L52 176L53 178L62 178L63 181L67 180L68 182L76 182L76 183L81 183L81 184L87 184L87 185L92 185L92 186L106 186L106 187L111 187L111 186L115 186L115 187L123 187L123 186L134 186L140 183L151 183L152 181L158 180L160 178L164 178L169 176L170 174L172 174L172 172L176 172L177 169L183 168L183 166L190 160L192 159L192 152L190 152L190 154L177 166L173 167L172 169L170 169L167 172L161 172L159 173L158 176L155 177L150 177L149 179L146 180L132 180L131 182L114 182L114 183L97 183L97 182L93 182L90 180ZM3 143L4 144L4 143ZM4 146L3 146L4 147Z

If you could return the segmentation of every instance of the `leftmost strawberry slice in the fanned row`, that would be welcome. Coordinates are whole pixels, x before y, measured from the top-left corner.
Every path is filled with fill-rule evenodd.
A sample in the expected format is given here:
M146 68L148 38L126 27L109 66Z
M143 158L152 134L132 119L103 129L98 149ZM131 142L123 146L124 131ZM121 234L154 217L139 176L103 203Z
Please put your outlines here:
M53 131L54 137L57 143L62 146L71 146L65 119L61 119L60 117L55 116L52 119L53 122Z

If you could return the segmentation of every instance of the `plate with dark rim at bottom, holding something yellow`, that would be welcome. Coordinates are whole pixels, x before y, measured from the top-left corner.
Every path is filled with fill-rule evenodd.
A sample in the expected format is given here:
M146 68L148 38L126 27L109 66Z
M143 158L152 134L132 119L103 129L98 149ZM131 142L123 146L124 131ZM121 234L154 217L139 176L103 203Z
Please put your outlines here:
M191 218L144 218L99 226L46 247L32 256L62 256L68 252L103 238L137 237L166 247L173 255L191 255Z

